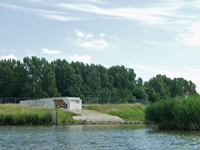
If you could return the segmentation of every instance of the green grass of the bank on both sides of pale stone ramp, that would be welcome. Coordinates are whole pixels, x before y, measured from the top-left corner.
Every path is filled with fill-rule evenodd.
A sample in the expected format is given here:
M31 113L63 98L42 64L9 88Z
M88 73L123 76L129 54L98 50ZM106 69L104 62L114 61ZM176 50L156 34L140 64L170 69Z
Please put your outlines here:
M95 110L113 116L119 116L127 121L144 121L145 106L140 104L88 104L83 109ZM49 112L53 113L49 113ZM63 110L40 107L20 107L19 104L0 104L0 125L47 125L52 124L52 118L57 112L58 122L76 123L72 117L75 113ZM54 117L52 117L54 115Z

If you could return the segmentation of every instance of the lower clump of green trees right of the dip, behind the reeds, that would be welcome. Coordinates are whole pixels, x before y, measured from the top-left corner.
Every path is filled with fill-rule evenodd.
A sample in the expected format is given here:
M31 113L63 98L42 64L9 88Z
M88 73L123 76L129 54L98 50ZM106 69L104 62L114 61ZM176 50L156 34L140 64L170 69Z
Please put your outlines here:
M196 85L190 80L183 78L171 78L166 75L157 75L144 83L145 91L149 95L149 100L154 102L160 99L170 99L197 95Z

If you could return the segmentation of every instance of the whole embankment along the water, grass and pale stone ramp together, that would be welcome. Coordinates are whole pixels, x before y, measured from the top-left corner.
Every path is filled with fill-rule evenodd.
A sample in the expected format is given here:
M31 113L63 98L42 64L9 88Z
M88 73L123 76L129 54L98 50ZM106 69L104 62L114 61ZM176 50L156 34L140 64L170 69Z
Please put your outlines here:
M96 110L63 111L41 107L20 107L19 104L1 104L0 125L55 124L56 112L57 123L66 125L138 124L144 122L144 106L138 104L104 104L84 106L84 109L94 108L96 108Z

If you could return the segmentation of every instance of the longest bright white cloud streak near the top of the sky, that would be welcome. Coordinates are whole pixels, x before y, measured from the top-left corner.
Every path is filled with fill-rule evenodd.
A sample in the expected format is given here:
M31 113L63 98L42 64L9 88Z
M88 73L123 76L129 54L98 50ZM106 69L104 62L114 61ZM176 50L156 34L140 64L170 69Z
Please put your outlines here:
M102 15L115 16L118 18L135 19L139 21L144 21L146 23L164 23L164 17L174 17L174 10L177 7L153 7L153 8L110 8L104 9L90 4L67 4L61 3L56 5L64 9L72 9L76 11L96 13Z

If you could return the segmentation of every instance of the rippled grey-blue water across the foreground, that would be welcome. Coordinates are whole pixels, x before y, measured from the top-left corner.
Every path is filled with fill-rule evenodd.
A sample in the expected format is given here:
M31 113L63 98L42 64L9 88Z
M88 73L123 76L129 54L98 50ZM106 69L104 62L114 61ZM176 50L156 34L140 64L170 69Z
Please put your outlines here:
M200 149L200 132L145 125L0 126L0 149Z

